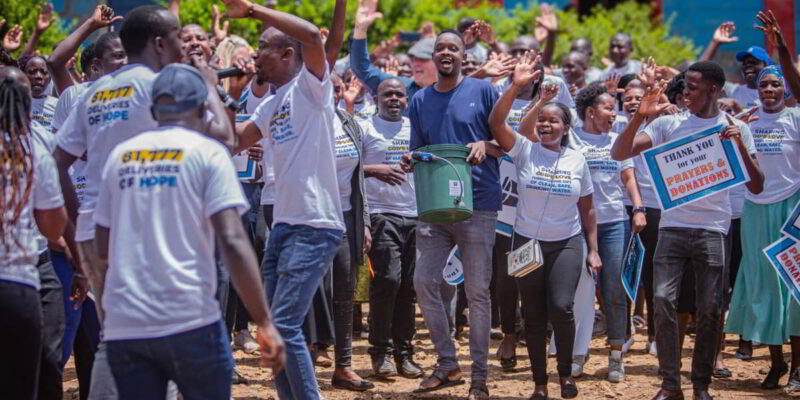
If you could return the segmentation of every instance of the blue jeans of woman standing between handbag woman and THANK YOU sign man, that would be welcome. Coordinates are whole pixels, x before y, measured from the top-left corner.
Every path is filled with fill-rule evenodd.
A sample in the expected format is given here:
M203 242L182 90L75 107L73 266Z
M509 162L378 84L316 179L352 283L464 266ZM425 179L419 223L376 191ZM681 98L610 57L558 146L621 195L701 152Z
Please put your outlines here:
M597 284L605 305L609 346L622 346L625 343L628 326L628 302L620 269L629 231L627 220L597 224L597 251L603 262Z

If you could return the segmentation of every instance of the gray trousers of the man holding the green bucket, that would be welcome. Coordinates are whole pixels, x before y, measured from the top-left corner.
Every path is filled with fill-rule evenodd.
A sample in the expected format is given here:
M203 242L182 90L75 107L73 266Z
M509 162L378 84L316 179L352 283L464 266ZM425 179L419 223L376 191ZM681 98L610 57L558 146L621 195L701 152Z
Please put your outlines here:
M417 225L417 262L414 289L431 341L439 355L439 368L458 367L456 348L450 335L448 315L442 298L442 271L453 246L458 245L464 268L464 284L469 302L469 352L472 380L485 381L488 373L489 333L491 329L492 248L496 211L475 211L471 218L455 224Z

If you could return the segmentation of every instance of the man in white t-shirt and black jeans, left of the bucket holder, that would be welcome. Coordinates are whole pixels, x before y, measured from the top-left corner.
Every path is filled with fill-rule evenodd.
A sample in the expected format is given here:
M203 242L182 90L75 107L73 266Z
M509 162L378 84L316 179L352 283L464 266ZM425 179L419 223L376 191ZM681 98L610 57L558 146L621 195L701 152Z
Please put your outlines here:
M414 362L414 264L416 258L417 200L414 176L400 167L411 141L406 88L389 78L378 85L378 115L362 122L364 175L370 208L375 276L369 290L369 354L372 368L391 365L406 378L419 378ZM391 370L391 368L389 368Z

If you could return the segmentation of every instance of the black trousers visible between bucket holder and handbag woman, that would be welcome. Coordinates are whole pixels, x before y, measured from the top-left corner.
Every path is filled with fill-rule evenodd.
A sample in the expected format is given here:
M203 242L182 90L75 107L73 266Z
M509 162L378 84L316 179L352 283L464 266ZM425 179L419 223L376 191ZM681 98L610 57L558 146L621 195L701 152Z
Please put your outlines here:
M516 238L515 238L516 239ZM500 309L500 328L508 335L519 331L517 307L519 290L513 276L508 274L508 252L511 238L498 234L494 240L495 293Z

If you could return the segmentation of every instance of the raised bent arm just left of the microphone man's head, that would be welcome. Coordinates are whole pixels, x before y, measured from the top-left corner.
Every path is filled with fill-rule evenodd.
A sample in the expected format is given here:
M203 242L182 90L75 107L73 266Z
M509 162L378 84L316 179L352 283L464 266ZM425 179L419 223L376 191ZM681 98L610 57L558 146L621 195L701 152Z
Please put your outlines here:
M114 16L114 10L111 9L111 7L99 5L95 7L91 17L83 21L75 32L72 32L56 46L56 49L53 50L50 57L47 57L47 68L50 70L50 76L53 78L53 83L58 93L63 92L66 88L75 84L67 70L67 63L78 50L78 46L80 46L92 32L111 25L121 19L121 16Z

